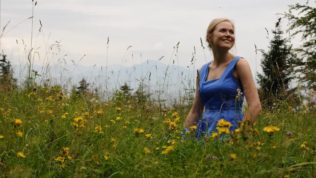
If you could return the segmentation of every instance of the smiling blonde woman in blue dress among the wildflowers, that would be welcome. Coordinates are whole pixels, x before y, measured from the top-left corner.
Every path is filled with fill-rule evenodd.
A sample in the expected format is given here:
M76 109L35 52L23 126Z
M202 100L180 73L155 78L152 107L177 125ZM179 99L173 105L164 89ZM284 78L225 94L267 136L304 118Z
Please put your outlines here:
M194 104L183 125L185 130L197 125L197 138L218 132L220 119L232 124L230 132L238 128L238 122L244 118L250 118L252 125L261 111L248 62L229 53L235 41L234 24L226 18L213 20L207 28L206 41L214 61L198 70ZM245 115L242 113L244 96L249 106Z

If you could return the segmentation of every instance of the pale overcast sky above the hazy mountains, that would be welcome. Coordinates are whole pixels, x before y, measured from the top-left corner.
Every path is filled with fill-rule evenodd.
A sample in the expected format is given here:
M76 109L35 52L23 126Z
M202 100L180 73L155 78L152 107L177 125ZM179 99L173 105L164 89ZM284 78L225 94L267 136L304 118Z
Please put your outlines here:
M54 58L50 56L51 62L67 55L64 58L67 64L71 64L71 60L77 63L86 55L81 65L104 67L109 37L108 65L121 64L128 46L133 47L127 51L125 66L133 65L131 54L134 64L140 64L141 60L158 60L162 56L165 56L162 62L168 64L173 47L179 41L179 65L190 65L195 46L195 65L200 67L205 63L200 38L206 46L205 33L209 22L214 18L227 17L233 19L236 26L235 55L247 59L254 74L256 62L257 71L260 71L261 59L260 53L255 54L254 44L257 48L267 49L269 41L265 28L269 30L271 39L271 30L280 17L276 14L287 11L288 5L296 3L304 4L305 1L39 0L34 8L32 47L40 47L37 50L40 58L36 54L34 60L35 64L42 65L44 41L50 46L61 40L60 54ZM313 2L310 5L315 6ZM1 29L11 20L6 32L31 16L32 0L1 0ZM39 20L43 25L43 33L38 33ZM1 49L15 64L27 59L31 45L31 24L32 19L28 19L1 39ZM282 27L286 29L286 19L282 20ZM22 39L27 46L25 52ZM298 46L299 39L293 40L293 43ZM205 56L207 62L212 60L206 47ZM177 61L175 55L172 59Z

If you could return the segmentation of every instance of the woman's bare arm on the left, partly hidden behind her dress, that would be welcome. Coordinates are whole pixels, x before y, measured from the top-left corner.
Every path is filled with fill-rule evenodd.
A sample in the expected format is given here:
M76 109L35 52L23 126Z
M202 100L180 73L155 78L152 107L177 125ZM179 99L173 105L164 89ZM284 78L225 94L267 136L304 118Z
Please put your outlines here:
M195 91L194 103L185 121L185 124L183 124L183 128L188 128L191 125L197 124L203 112L204 104L198 92L199 83L200 83L200 71L201 71L201 68L198 70L197 77L196 77L196 91Z

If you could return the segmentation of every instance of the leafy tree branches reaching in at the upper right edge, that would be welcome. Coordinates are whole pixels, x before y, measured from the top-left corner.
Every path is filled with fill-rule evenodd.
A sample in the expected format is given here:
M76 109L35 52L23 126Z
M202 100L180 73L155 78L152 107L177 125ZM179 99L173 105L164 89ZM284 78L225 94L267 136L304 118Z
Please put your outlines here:
M293 10L299 13L294 15ZM303 56L301 68L297 70L303 74L300 79L316 90L316 8L308 6L308 1L306 5L290 5L284 16L290 21L288 31L295 30L292 36L302 35L303 44L296 49Z

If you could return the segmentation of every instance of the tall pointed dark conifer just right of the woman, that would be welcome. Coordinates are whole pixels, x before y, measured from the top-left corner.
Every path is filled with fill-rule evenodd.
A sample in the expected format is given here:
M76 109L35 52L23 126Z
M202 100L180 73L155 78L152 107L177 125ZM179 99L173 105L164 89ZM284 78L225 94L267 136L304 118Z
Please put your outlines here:
M257 73L257 77L260 99L267 101L266 106L271 106L273 99L282 99L287 94L289 82L296 77L293 70L300 61L289 39L282 36L280 22L281 18L276 22L275 30L272 30L273 39L270 41L269 51L260 49L262 74Z

